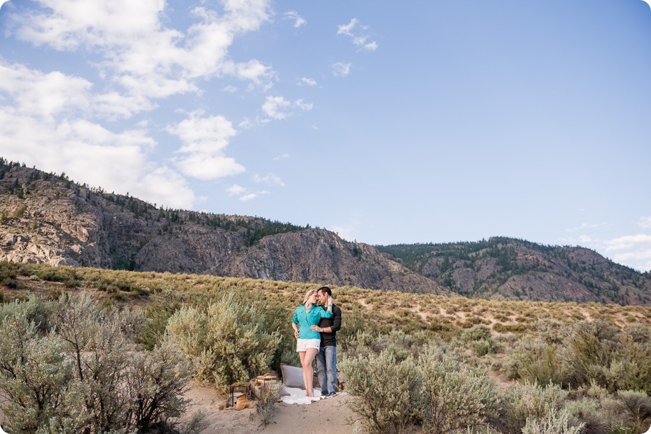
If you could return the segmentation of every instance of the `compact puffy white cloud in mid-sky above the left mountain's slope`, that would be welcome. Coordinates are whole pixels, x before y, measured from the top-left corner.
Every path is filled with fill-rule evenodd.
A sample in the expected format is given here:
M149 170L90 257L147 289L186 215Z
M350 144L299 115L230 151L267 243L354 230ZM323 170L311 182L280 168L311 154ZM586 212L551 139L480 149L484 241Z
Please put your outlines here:
M190 113L175 126L168 126L168 133L177 135L184 144L175 159L180 171L198 179L217 179L244 172L244 166L226 157L224 150L236 134L230 121L224 116L202 117L201 111Z

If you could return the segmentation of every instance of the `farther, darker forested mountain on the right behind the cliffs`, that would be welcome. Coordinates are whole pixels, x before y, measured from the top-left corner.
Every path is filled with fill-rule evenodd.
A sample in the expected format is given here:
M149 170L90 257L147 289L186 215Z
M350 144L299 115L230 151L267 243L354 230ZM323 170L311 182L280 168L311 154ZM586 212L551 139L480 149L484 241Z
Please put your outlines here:
M532 301L651 304L651 274L584 247L496 237L477 243L376 246L464 296Z

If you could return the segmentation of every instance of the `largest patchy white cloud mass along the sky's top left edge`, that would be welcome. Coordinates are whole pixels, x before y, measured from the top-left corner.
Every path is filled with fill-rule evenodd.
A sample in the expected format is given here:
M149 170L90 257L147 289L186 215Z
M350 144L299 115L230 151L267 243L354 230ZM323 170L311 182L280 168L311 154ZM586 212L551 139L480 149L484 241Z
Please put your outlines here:
M10 14L16 36L56 50L102 55L98 66L129 94L165 98L197 91L197 79L229 74L256 84L273 77L258 60L233 62L228 50L237 35L270 18L268 0L224 1L223 13L197 7L185 32L167 28L161 0L40 0L27 16Z

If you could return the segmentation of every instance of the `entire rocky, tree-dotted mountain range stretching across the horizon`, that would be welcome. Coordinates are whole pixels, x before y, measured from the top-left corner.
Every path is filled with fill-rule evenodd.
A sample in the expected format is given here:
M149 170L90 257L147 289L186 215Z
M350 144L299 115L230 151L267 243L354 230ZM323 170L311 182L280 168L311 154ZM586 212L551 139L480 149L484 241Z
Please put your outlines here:
M484 299L651 304L651 275L513 238L371 246L319 228L163 209L0 158L0 260Z

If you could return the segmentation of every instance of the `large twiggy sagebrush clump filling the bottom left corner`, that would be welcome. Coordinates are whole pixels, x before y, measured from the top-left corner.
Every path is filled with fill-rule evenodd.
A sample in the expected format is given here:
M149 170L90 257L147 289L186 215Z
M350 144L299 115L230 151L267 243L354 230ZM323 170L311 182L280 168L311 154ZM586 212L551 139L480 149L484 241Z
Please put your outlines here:
M180 416L190 367L170 347L135 352L130 311L64 294L52 328L38 330L23 304L0 320L0 389L16 432L148 430Z

